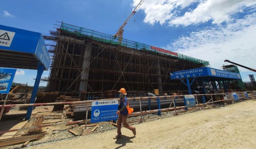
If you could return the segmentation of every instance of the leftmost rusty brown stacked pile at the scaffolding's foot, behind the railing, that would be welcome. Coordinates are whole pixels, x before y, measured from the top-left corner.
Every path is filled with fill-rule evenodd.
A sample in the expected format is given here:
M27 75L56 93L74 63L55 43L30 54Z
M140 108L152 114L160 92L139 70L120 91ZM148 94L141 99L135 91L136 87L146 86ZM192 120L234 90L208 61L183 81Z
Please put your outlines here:
M38 92L37 100L35 100L35 103L54 103L58 95L59 92Z

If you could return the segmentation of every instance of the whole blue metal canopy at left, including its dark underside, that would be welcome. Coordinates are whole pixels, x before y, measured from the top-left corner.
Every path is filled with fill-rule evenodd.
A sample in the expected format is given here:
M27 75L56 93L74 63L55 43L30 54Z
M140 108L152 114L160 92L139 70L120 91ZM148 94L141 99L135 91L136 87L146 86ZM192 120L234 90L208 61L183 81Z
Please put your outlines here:
M48 70L50 56L41 33L0 25L0 67Z

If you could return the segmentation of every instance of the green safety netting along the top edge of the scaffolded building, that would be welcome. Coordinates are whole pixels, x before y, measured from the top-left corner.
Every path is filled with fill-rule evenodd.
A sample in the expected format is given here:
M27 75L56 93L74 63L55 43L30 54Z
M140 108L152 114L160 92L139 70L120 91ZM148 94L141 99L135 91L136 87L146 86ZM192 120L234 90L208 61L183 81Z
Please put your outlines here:
M93 38L93 40L96 40L96 41L107 42L107 43L111 43L111 44L119 44L119 45L126 46L126 47L129 47L129 48L137 49L137 50L144 50L144 51L151 51L151 52L161 53L161 54L169 55L169 56L172 56L172 57L177 57L177 58L182 59L182 60L187 60L187 61L191 61L191 62L195 62L195 63L201 63L204 66L209 66L210 65L209 61L200 60L200 59L193 58L193 57L186 56L186 55L179 54L179 53L178 53L177 56L174 56L174 55L171 55L171 54L168 54L168 53L159 52L157 50L151 49L151 45L147 45L147 44L144 44L144 43L139 43L139 42L136 42L136 41L127 40L127 39L124 39L124 38L119 39L118 37L114 37L112 35L100 33L100 32L94 31L94 30L85 29L83 27L78 27L78 26L74 26L74 25L70 25L70 24L66 24L66 23L61 23L61 29L66 31L66 32L70 32L72 34L76 34L77 36Z

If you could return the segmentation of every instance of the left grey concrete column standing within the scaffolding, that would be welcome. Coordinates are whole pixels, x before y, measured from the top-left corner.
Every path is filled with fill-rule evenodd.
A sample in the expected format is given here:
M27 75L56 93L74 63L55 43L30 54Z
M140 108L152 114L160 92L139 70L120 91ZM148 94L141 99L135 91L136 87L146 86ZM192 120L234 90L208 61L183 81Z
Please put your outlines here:
M81 97L81 92L87 90L87 82L89 76L89 68L90 68L90 57L91 57L91 43L85 44L85 50L83 55L83 63L82 63L82 75L80 77L79 84L79 98Z

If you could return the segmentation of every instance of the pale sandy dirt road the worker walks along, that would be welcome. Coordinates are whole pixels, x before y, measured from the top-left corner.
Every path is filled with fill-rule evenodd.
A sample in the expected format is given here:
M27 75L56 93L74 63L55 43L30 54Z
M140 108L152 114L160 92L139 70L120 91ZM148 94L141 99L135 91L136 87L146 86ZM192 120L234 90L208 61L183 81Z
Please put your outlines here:
M256 100L162 118L122 128L29 146L28 148L256 148Z

